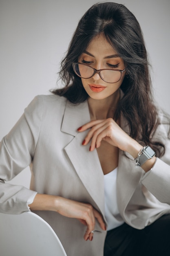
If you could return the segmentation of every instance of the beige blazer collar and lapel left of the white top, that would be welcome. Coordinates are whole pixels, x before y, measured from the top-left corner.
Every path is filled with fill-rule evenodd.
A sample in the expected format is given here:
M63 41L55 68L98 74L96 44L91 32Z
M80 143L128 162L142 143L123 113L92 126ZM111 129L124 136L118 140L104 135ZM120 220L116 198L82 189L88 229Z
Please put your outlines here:
M89 151L90 145L82 146L87 131L77 132L77 128L90 121L87 101L74 105L66 104L62 122L62 132L74 136L73 140L64 148L71 160L77 175L91 195L97 207L104 215L104 175L97 155L97 150Z

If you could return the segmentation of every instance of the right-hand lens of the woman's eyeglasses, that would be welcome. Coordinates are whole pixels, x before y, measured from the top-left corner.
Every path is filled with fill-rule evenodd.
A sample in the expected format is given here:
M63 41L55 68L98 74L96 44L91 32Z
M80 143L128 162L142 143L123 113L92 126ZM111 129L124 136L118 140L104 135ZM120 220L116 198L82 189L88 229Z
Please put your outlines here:
M118 70L102 70L100 75L107 83L116 83L121 78L121 72Z

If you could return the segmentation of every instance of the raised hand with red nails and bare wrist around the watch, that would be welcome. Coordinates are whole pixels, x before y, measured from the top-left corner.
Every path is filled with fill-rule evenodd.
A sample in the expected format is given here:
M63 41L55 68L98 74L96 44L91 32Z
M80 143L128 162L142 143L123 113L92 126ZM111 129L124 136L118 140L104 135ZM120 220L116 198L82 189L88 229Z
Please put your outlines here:
M84 138L82 144L87 145L91 140L91 146L89 148L90 151L93 151L95 148L99 148L101 141L105 140L109 144L130 153L130 155L135 159L141 148L143 148L143 146L141 146L135 139L132 139L126 132L124 132L124 130L122 130L112 118L90 121L79 127L77 130L79 132L83 132L89 128L91 129ZM145 172L147 172L152 168L155 160L156 157L152 157L141 167Z

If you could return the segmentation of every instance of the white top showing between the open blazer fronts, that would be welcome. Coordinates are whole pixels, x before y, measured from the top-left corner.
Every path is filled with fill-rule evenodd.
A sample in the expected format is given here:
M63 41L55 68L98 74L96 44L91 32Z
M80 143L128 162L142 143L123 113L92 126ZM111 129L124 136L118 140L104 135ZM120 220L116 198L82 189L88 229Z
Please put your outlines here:
M104 175L105 217L108 223L107 230L119 227L124 223L117 206L116 179L117 168Z

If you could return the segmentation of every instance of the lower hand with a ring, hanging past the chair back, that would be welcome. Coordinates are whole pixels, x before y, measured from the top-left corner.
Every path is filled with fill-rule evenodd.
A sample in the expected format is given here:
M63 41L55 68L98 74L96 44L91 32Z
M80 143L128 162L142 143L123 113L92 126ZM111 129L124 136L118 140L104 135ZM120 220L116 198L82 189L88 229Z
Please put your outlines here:
M93 239L91 231L95 229L95 218L98 220L100 227L106 230L102 215L91 204L58 197L57 212L69 218L77 218L82 224L86 225L85 240Z

